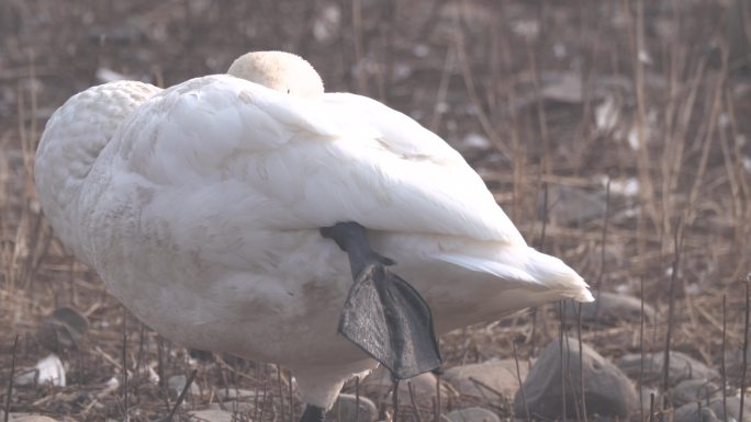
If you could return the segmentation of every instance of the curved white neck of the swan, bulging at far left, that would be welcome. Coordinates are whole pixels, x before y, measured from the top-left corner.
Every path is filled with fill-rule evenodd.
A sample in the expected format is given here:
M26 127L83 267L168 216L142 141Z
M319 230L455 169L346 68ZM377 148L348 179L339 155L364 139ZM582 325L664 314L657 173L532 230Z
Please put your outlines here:
M81 260L81 186L120 123L160 89L135 81L89 88L47 121L36 150L34 184L44 214L63 243Z

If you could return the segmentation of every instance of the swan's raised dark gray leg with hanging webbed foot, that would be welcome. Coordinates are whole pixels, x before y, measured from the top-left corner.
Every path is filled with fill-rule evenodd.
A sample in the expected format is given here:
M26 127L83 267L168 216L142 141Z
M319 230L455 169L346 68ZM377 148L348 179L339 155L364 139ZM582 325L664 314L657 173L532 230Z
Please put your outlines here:
M373 251L365 227L337 223L321 229L347 252L355 284L349 289L339 333L406 379L440 366L430 308L407 282L388 266L395 262Z

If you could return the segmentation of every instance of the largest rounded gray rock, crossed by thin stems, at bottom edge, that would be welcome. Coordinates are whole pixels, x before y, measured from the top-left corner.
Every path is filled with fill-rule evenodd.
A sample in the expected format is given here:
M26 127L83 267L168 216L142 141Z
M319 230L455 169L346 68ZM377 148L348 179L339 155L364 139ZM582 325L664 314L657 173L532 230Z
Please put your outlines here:
M629 412L638 408L636 389L618 367L584 344L580 369L579 342L575 339L563 339L563 363L568 366L564 372L569 379L565 396L561 391L560 340L548 344L524 381L524 395L531 415L557 419L561 415L561 404L565 400L567 415L575 418L579 400L574 395L581 396L580 375L584 380L587 414L627 418ZM526 410L522 394L522 390L516 394L514 411L524 417Z

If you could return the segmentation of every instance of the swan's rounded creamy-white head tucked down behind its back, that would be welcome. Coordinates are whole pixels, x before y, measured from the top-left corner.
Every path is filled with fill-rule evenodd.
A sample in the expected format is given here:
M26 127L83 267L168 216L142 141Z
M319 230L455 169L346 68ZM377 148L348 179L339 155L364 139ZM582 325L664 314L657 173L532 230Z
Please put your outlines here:
M318 72L291 53L248 53L235 60L227 73L295 96L311 99L324 93Z

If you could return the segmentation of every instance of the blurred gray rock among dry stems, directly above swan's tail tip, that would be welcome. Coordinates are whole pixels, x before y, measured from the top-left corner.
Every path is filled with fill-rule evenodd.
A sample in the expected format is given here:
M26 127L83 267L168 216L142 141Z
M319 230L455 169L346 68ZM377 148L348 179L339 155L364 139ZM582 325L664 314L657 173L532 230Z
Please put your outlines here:
M545 212L545 192L540 192L538 214L547 214L551 221L561 226L581 226L605 215L605 199L578 187L548 185L548 212Z

